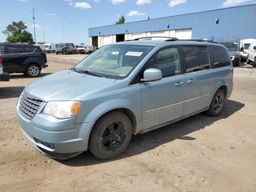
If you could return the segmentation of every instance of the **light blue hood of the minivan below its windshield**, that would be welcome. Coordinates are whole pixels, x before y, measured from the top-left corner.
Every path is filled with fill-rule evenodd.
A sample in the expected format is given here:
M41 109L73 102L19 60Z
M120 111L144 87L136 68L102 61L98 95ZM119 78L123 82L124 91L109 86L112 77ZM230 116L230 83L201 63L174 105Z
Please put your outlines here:
M114 83L115 79L64 70L28 84L25 91L44 101L70 100L80 94Z

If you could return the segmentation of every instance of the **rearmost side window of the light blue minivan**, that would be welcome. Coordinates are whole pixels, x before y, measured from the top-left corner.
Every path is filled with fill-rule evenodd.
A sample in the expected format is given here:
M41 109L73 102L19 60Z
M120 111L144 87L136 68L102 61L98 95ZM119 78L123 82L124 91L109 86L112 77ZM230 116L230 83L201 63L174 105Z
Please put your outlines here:
M214 68L230 66L230 56L228 52L218 46L209 46L213 57Z

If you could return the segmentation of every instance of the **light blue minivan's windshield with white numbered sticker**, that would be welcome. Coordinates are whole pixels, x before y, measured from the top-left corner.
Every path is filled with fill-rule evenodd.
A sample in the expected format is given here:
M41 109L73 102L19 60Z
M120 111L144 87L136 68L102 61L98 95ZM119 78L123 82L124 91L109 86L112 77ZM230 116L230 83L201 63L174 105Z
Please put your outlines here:
M72 69L77 72L93 72L106 78L123 79L153 48L148 45L107 45L84 58Z

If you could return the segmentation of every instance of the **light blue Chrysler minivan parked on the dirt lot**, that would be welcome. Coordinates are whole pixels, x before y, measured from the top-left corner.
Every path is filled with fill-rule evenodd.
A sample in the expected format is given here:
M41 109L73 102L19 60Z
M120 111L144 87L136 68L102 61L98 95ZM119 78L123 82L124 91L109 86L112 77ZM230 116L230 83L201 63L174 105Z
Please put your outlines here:
M67 159L89 149L110 159L132 135L200 112L218 116L232 89L224 45L137 39L104 46L73 68L28 84L17 117L40 154Z

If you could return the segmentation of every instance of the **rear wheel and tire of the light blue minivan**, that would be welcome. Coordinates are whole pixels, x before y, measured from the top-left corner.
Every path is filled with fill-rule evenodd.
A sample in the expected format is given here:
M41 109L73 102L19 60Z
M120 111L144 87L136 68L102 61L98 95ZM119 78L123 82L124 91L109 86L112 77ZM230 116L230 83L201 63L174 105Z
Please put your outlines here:
M209 106L209 109L205 111L205 114L212 117L217 117L221 113L224 107L225 99L226 98L225 98L224 91L221 89L218 89L214 94L214 97L212 98L212 102Z

